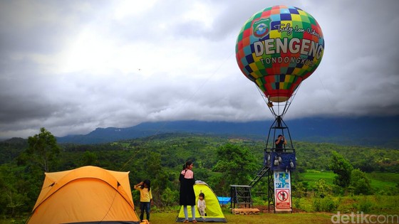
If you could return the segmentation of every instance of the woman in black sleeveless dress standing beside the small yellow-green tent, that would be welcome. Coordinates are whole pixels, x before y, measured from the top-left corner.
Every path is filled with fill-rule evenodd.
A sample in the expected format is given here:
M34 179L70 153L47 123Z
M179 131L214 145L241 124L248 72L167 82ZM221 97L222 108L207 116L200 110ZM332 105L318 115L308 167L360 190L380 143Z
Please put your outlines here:
M191 206L192 213L192 223L197 223L195 220L195 192L194 192L194 172L192 171L192 161L187 161L183 165L183 169L180 172L180 206L183 206L183 211L185 213L185 221L183 223L188 223L188 211L187 206Z

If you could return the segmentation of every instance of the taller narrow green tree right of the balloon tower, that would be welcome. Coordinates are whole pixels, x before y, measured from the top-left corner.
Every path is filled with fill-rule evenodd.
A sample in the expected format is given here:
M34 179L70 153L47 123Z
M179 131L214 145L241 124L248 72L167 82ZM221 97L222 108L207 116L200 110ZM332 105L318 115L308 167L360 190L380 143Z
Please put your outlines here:
M334 183L337 186L346 188L351 183L351 172L353 170L353 166L348 160L343 158L341 154L338 154L338 152L332 151L331 153L333 155L331 157L329 168L334 174L338 175L334 179Z

